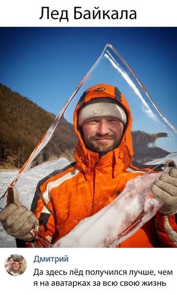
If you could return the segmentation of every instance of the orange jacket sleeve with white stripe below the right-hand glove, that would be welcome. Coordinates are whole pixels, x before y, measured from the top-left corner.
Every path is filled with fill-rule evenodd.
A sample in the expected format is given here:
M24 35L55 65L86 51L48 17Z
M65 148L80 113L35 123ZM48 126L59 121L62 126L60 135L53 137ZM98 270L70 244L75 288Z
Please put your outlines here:
M155 215L156 230L160 239L161 248L177 248L177 214Z

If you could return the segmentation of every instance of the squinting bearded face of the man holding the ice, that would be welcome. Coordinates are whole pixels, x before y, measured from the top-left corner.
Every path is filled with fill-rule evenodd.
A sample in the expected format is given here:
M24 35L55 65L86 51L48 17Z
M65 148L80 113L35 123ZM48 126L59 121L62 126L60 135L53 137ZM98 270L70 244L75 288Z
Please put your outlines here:
M82 124L85 146L93 152L106 154L119 146L123 129L123 123L114 117L87 119Z

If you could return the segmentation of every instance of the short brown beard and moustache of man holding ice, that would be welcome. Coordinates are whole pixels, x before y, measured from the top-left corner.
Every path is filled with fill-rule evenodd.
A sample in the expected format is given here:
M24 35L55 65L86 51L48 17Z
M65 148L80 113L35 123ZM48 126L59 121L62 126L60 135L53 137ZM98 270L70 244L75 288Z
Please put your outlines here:
M99 139L111 139L109 142L98 142ZM85 145L89 150L99 153L107 154L109 151L117 148L120 145L122 138L118 138L116 135L93 135L86 140Z

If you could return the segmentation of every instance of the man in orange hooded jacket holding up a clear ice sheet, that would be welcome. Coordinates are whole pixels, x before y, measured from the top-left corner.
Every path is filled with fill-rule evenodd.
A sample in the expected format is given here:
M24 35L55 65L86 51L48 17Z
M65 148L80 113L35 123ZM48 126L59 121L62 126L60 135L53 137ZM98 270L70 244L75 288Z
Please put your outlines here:
M85 91L74 111L76 162L39 182L31 206L35 215L21 206L15 189L9 191L17 205L10 204L0 212L4 229L26 241L27 247L37 247L36 243L45 247L45 241L53 244L81 220L110 204L128 180L145 173L131 165L131 127L129 105L116 87L99 84ZM177 169L160 178L152 190L165 205L117 247L177 247ZM43 240L33 241L29 231L35 225Z

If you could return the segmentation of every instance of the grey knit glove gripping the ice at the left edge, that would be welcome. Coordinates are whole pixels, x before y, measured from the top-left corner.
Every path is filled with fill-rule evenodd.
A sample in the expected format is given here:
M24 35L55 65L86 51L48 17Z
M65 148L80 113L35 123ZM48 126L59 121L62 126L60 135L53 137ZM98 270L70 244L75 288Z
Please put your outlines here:
M23 241L34 239L30 230L39 224L37 217L22 206L15 187L8 191L7 205L0 211L0 222L8 234Z

